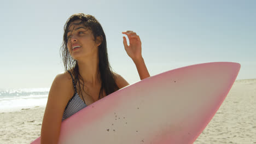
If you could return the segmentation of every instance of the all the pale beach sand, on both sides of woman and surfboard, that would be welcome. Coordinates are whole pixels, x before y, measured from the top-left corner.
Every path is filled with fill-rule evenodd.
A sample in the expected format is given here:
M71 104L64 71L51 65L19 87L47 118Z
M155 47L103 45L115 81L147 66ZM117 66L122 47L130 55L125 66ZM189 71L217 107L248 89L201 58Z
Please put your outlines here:
M0 113L0 143L30 143L40 135L45 107ZM256 79L237 80L194 144L256 143Z

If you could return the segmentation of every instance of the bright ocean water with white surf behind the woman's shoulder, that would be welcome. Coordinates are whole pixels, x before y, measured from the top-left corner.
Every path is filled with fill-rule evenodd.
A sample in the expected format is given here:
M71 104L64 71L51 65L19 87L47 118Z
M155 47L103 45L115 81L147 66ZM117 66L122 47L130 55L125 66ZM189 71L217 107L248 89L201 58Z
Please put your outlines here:
M50 88L0 89L0 112L46 106Z

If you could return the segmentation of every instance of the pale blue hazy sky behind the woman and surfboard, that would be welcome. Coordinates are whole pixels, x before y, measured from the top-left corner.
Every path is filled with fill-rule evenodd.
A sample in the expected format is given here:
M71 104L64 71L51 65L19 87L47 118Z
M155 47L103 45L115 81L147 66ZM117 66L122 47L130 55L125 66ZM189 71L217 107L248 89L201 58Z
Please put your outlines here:
M113 70L139 81L123 45L136 32L150 75L192 64L237 62L237 80L256 79L256 1L1 1L0 89L50 87L64 71L63 26L75 13L101 23Z

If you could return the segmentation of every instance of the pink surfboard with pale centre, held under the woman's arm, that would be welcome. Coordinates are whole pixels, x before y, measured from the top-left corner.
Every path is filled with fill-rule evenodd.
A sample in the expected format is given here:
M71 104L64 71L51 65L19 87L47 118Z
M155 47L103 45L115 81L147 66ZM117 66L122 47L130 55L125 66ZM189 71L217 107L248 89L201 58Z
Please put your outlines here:
M67 118L59 143L193 143L239 70L238 63L213 62L151 76Z

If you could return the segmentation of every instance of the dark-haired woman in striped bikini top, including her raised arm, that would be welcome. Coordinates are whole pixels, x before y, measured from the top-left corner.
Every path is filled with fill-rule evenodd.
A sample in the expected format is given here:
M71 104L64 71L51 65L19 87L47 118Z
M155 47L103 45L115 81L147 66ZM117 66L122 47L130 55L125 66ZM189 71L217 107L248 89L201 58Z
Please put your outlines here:
M141 54L141 40L132 31L123 32L129 38L127 55L135 63L142 79L149 77ZM61 122L98 99L129 83L114 73L108 62L104 31L94 16L74 14L64 26L61 47L65 73L55 77L45 108L41 143L57 143Z

